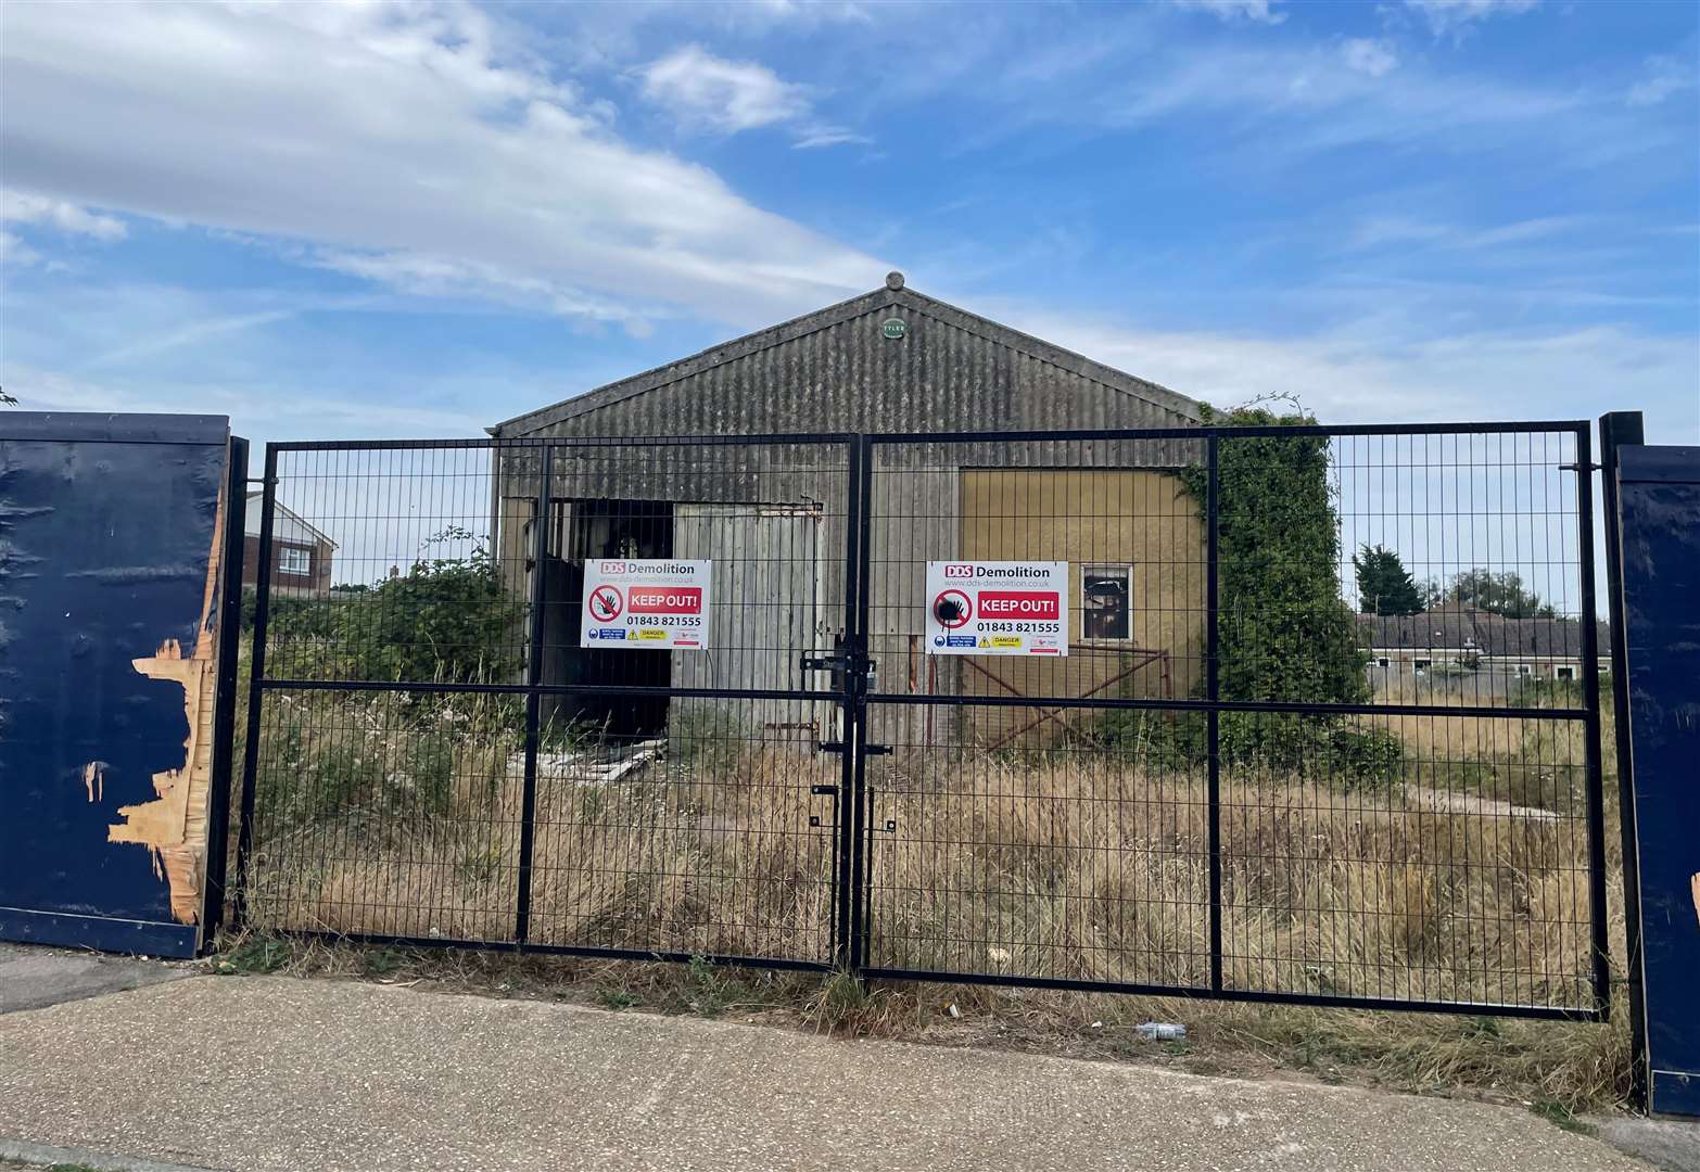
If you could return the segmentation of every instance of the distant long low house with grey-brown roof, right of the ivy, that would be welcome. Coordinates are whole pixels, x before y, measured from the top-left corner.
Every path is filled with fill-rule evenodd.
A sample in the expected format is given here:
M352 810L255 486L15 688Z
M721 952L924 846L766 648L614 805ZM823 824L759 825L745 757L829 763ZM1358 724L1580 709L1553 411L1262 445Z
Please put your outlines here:
M1488 673L1533 679L1579 679L1579 618L1506 618L1474 606L1436 606L1418 615L1360 615L1360 645L1370 649L1370 679ZM1601 669L1612 630L1595 623Z

